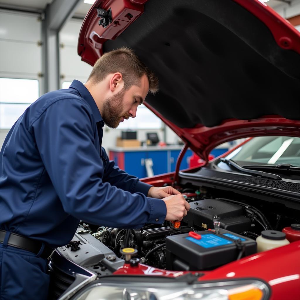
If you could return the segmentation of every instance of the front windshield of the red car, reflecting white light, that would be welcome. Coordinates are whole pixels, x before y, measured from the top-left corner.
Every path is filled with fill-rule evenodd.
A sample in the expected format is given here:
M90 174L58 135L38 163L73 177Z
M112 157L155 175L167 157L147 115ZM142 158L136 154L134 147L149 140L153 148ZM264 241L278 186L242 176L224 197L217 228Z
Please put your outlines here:
M240 165L291 164L300 167L300 138L254 137L225 158Z

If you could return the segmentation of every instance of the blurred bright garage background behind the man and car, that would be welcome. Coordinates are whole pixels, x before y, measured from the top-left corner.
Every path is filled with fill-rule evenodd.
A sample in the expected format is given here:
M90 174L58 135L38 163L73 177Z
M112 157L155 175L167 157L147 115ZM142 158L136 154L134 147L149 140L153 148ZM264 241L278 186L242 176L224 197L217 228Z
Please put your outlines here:
M48 91L68 88L73 79L84 83L88 78L92 67L81 61L77 54L77 41L82 21L92 2L0 2L0 146L14 122L38 97ZM269 0L267 4L300 30L300 1ZM15 85L19 85L20 89L14 90L12 87ZM128 160L127 166L124 166L127 172L143 178L174 171L182 142L146 107L139 107L135 119L121 123L115 130L104 126L104 133L102 146L107 153L111 153L111 159L117 159L120 153L124 153ZM151 141L151 137L154 140ZM239 142L241 140L218 146L211 153L212 157L224 153ZM170 151L158 151L153 158L148 159L148 154L140 149L147 143L168 145ZM138 151L130 151L132 147ZM161 150L160 146L157 147ZM192 155L191 151L187 153L182 168L197 164L199 158ZM134 161L131 156L138 158ZM165 156L169 163L161 167ZM191 159L194 161L192 164ZM131 167L137 163L139 170Z

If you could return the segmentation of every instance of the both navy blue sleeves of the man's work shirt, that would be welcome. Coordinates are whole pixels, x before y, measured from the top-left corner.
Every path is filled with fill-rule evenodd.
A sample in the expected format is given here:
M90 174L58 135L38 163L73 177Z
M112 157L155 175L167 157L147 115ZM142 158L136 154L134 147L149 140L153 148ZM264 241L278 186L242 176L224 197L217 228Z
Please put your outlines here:
M146 197L149 184L110 162L104 167L95 146L95 120L80 98L52 101L29 130L65 212L118 228L163 223L166 205Z

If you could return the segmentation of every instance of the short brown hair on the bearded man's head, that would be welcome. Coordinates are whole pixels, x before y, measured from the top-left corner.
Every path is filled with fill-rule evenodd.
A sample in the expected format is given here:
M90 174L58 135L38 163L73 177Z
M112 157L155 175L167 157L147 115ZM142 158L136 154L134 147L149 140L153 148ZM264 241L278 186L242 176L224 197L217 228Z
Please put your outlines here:
M95 63L88 80L98 83L111 73L120 72L124 80L124 88L128 90L146 74L149 81L149 91L155 94L158 91L158 78L137 57L132 49L122 47L102 55Z

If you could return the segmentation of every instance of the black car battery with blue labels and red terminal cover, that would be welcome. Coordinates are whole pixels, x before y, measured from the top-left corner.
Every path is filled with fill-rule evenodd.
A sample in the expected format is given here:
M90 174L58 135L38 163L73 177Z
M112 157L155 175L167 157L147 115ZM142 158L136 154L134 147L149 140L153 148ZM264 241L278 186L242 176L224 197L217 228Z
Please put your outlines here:
M167 270L210 270L256 252L254 240L221 228L166 238Z

